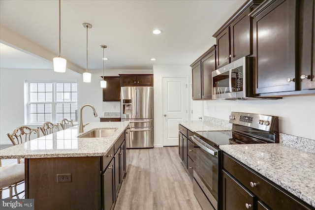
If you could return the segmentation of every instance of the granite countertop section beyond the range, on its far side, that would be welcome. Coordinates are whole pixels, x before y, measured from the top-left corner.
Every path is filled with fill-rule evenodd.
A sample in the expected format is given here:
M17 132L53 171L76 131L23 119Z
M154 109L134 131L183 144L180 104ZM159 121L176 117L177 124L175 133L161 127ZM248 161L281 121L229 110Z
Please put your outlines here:
M215 131L215 130L231 130L232 124L220 124L220 123L212 123L207 121L184 121L180 122L181 125L188 128L190 131ZM230 125L229 125L230 124Z

